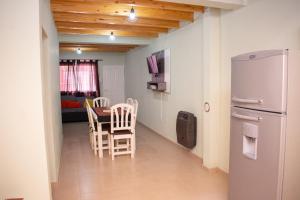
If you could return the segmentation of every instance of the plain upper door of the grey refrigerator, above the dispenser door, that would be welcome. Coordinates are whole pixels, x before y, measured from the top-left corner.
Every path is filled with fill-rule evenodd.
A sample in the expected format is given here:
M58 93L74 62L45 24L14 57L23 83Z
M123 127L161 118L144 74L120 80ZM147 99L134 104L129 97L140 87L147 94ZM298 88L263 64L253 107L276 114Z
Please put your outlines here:
M233 106L286 112L287 51L233 57L231 88Z

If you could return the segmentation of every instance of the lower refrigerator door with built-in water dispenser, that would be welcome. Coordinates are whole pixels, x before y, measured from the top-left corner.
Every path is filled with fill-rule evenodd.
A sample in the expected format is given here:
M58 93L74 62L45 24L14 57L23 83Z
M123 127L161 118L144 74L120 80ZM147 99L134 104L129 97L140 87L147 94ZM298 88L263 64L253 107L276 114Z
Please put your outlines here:
M281 200L285 119L232 108L229 200Z

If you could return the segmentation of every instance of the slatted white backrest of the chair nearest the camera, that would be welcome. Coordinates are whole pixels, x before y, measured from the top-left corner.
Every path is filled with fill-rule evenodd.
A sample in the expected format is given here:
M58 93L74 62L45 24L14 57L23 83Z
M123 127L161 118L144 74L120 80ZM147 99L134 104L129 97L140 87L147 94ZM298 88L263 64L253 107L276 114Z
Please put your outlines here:
M133 106L125 103L116 104L111 108L111 132L118 130L129 130L132 133L135 129L135 117Z

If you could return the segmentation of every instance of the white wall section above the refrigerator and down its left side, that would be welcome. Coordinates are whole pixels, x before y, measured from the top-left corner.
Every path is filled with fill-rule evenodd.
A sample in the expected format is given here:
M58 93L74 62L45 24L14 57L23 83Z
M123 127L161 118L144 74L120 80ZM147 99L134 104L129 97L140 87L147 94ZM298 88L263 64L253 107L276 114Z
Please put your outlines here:
M230 58L256 50L300 49L299 0L248 0L221 16L221 130L219 167L228 171L230 135Z

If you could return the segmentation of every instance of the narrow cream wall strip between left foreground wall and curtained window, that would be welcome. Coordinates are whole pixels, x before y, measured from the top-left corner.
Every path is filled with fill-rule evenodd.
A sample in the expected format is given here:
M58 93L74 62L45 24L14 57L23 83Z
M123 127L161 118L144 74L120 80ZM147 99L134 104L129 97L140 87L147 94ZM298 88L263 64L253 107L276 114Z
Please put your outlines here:
M50 181L56 182L58 180L63 134L59 91L59 42L49 0L41 1L40 14L41 26L44 34L46 34L46 40L41 48L47 54L42 60L42 72L48 164Z

